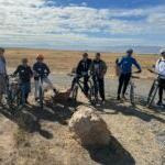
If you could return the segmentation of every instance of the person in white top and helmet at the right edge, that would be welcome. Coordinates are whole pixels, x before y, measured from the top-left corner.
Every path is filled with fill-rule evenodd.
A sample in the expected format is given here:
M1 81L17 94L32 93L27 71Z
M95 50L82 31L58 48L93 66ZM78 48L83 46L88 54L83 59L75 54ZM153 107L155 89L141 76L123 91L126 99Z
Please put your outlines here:
M156 62L155 65L155 72L160 75L157 106L163 106L163 91L165 90L165 50L161 50L161 55L162 57Z

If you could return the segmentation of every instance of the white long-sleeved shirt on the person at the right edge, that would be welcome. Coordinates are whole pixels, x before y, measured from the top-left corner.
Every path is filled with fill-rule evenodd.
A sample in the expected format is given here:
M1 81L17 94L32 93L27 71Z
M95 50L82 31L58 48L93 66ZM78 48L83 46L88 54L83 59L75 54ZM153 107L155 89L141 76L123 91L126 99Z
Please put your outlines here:
M161 78L165 79L165 59L163 57L156 62L155 70L162 75Z

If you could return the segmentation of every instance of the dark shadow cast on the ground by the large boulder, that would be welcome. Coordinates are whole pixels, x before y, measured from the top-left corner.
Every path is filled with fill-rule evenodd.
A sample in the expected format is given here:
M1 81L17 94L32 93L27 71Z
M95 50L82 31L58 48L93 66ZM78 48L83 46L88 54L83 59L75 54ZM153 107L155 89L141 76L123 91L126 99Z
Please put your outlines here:
M132 155L113 136L108 146L86 148L90 157L101 165L135 165Z

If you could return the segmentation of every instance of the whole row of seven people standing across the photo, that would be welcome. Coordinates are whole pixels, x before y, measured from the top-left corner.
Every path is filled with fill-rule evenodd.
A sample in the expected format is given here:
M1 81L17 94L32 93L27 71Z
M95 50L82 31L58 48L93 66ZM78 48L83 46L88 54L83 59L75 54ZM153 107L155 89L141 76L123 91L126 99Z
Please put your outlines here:
M158 91L158 106L163 105L163 90L165 89L165 50L161 51L161 58L156 62L155 73L160 75L160 91ZM2 101L2 95L6 92L6 79L7 79L7 68L6 68L6 57L4 48L0 48L0 103ZM133 57L133 50L128 50L127 55L118 58L116 61L116 67L118 69L119 76L119 87L117 99L125 100L125 91L132 76L132 67L138 68L134 73L141 73L142 68L138 61ZM105 95L105 76L107 73L107 64L101 59L101 54L96 53L94 59L88 57L87 53L82 54L82 59L78 63L76 67L76 76L73 80L70 92L74 89L74 85L79 78L84 78L84 90L85 95L88 96L88 80L89 77L92 77L96 98L101 98L101 101L106 101ZM44 63L44 56L42 54L37 55L36 63L33 65L33 68L30 67L28 58L22 59L22 64L18 66L13 76L19 75L21 81L21 90L23 91L23 97L28 103L29 94L31 91L31 78L34 77L35 84L35 100L38 100L38 80L42 79L43 82L46 82L54 91L57 94L56 88L53 86L52 81L48 79L51 70L48 66Z

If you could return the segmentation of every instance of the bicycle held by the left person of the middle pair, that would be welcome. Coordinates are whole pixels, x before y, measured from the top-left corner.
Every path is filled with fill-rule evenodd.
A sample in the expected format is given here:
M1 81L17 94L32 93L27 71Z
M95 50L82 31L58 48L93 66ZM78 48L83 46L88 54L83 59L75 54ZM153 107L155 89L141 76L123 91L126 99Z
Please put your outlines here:
M89 87L88 94L86 94L86 91L84 89L84 80L81 80L81 78L84 78L82 76L77 76L76 74L68 74L68 76L76 78L76 81L74 84L74 88L72 91L72 99L74 101L77 101L78 89L80 88L82 94L88 98L88 100L91 103L96 102L95 86L94 86L91 76L89 76L89 79L88 79L88 87Z

